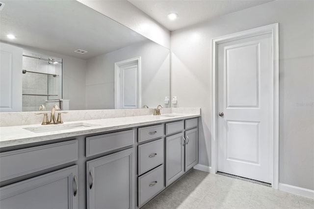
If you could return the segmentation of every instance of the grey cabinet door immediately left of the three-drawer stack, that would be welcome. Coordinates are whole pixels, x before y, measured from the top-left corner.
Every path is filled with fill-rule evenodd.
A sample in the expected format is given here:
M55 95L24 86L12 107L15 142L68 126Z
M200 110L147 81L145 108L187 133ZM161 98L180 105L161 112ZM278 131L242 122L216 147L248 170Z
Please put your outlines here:
M133 209L134 148L86 162L87 209Z

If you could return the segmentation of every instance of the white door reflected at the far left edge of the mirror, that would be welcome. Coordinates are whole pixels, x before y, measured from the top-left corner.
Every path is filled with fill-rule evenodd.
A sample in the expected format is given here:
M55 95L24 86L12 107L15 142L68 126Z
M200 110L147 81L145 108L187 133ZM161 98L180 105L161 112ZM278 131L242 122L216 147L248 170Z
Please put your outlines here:
M22 48L0 43L0 112L22 111Z

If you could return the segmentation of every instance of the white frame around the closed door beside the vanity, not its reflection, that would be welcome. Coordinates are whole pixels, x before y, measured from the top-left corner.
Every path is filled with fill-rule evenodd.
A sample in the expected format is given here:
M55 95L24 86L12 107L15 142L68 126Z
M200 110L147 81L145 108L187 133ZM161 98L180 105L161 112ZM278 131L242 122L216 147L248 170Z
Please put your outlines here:
M271 33L273 52L273 140L271 143L272 187L278 189L279 183L279 24L257 27L212 39L212 116L211 116L211 168L210 173L217 173L218 164L218 44Z

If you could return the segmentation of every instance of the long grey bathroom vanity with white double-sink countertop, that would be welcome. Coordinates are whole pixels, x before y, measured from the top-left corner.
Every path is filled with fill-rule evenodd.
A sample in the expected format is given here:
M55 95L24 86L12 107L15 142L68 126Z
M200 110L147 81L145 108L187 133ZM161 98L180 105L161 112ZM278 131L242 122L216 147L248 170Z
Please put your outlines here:
M198 163L199 116L1 127L0 208L140 208Z

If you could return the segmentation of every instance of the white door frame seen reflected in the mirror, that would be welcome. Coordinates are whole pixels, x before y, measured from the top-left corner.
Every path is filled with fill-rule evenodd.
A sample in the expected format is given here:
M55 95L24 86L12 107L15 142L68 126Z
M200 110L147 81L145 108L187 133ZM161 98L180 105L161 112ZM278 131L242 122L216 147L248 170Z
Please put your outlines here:
M119 83L117 82L117 79L119 78L118 73L120 73L120 66L125 65L125 64L131 64L131 63L137 63L138 66L138 75L137 75L137 80L138 80L138 86L137 86L137 94L138 94L138 108L141 108L141 57L133 57L130 59L122 60L119 62L114 63L114 108L117 108L118 105L118 98L117 98L117 92L120 92L120 81Z

